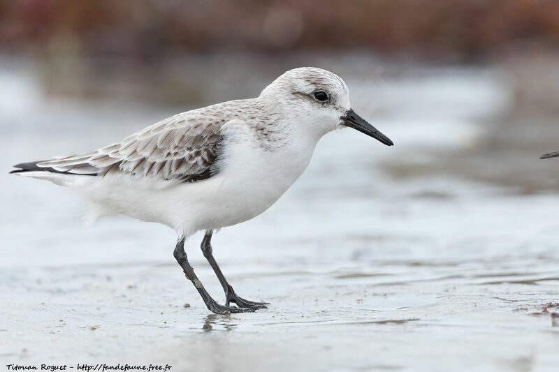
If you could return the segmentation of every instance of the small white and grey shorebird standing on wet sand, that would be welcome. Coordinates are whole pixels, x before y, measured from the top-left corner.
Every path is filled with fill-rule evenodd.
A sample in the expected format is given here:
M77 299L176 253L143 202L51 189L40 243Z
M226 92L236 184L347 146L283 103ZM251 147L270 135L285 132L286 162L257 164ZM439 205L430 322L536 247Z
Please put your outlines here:
M307 168L321 137L348 127L393 145L351 108L341 77L301 67L256 98L175 114L101 149L20 163L10 173L78 191L87 200L87 220L124 214L169 226L177 232L175 260L208 310L254 312L269 303L235 293L212 254L212 234L266 211ZM201 250L222 285L224 305L205 290L184 250L198 231L205 232Z

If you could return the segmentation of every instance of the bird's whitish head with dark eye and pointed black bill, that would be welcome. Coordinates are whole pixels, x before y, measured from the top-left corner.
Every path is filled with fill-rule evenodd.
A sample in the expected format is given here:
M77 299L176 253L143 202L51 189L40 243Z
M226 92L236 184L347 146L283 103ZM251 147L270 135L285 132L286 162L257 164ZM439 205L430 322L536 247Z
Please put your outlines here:
M321 68L301 67L277 77L259 99L279 105L305 131L321 136L348 126L380 142L393 142L351 109L349 89L339 76Z

